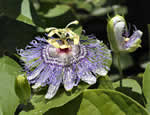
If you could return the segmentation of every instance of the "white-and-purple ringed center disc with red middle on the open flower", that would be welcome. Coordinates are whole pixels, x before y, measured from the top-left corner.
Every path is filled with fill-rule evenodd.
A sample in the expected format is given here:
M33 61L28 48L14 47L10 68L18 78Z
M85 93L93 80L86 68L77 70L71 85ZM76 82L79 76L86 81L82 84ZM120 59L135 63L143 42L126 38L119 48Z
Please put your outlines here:
M47 45L42 50L44 62L58 66L69 66L77 63L86 55L87 49L83 45L73 45L71 48L54 48L51 45Z

